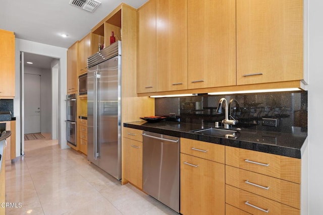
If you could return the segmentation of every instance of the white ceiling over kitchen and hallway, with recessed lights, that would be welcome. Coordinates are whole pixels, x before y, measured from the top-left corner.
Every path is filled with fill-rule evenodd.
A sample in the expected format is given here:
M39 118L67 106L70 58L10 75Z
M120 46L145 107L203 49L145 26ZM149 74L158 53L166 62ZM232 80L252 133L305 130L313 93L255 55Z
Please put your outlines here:
M63 48L82 39L122 2L139 8L147 0L97 0L101 5L88 12L70 5L70 0L0 0L0 29L15 32L16 38ZM68 34L63 38L61 34ZM24 61L50 68L51 57L25 53Z

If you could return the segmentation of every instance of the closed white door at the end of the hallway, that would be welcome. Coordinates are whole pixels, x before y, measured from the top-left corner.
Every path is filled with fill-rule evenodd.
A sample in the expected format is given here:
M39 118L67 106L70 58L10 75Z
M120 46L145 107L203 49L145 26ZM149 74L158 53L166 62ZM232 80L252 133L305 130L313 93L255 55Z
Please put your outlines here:
M40 133L40 75L24 74L25 134Z

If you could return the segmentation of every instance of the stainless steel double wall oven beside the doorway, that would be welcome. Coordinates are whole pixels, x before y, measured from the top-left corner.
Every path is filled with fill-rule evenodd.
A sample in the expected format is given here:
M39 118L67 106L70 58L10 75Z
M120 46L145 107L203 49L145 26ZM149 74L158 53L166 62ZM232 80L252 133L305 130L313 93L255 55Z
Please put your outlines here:
M76 94L66 96L66 140L76 146Z

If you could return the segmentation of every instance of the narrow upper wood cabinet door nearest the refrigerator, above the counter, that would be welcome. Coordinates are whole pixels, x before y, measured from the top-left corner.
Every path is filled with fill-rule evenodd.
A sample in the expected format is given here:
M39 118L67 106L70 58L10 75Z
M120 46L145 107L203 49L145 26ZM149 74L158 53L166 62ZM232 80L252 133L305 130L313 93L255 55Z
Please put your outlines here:
M156 0L137 12L137 93L156 92Z

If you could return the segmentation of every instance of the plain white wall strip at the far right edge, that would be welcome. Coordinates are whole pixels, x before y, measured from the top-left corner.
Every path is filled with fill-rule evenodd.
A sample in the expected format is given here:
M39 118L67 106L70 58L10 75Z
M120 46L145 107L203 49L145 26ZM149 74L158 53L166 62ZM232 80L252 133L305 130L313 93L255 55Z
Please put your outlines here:
M323 1L309 5L309 214L323 214Z

